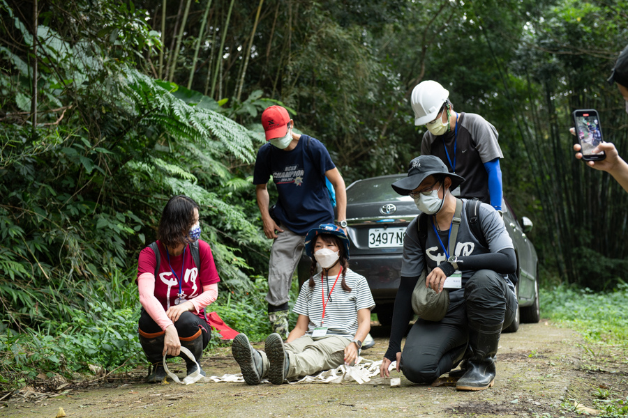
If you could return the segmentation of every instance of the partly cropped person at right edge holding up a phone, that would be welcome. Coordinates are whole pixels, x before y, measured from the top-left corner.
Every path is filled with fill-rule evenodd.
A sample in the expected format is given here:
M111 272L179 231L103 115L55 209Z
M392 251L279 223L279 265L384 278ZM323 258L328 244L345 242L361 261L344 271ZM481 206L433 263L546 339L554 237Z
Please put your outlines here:
M617 88L624 97L626 113L628 113L628 45L620 52L611 77L608 77L607 81L609 84L617 84ZM573 127L570 131L571 134L576 134ZM576 158L578 160L581 159L580 144L575 144L574 150L576 151ZM602 142L593 150L594 153L599 153L600 151L606 153L606 158L604 160L588 161L589 167L611 174L624 190L628 192L628 164L619 156L617 148L610 142Z

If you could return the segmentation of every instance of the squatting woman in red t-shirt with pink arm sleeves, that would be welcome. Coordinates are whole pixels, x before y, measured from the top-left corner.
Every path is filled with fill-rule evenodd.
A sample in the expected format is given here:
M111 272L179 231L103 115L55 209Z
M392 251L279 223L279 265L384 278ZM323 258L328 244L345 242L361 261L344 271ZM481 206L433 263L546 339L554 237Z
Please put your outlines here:
M199 239L200 233L197 203L186 196L174 196L163 208L158 240L140 252L137 288L142 312L138 332L152 364L149 383L165 378L164 355L177 357L185 347L199 362L209 342L211 329L204 308L218 297L220 279L211 248ZM181 357L189 376L196 371L196 364L186 355ZM200 374L205 376L202 369Z

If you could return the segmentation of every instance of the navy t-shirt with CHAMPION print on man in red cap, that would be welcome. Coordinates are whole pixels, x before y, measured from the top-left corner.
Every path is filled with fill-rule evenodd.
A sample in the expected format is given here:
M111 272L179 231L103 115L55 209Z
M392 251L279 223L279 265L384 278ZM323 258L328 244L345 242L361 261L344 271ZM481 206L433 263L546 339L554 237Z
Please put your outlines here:
M334 222L325 185L325 172L334 168L327 148L318 139L301 135L293 150L268 142L257 151L253 184L264 185L273 176L279 193L275 217L290 231L306 235L320 224Z

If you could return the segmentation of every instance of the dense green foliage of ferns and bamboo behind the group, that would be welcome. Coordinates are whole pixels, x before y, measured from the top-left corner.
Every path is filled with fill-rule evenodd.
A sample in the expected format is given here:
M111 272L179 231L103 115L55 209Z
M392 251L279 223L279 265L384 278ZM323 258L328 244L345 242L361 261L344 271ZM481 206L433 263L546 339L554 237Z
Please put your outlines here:
M424 132L410 92L438 80L457 111L498 128L504 190L536 224L544 279L625 279L628 196L574 159L568 133L573 109L595 107L628 155L622 100L604 82L628 39L625 0L34 4L0 0L4 378L32 371L36 351L68 373L137 353L137 254L173 194L202 207L214 309L267 332L270 242L251 175L259 113L277 102L349 184L405 171Z

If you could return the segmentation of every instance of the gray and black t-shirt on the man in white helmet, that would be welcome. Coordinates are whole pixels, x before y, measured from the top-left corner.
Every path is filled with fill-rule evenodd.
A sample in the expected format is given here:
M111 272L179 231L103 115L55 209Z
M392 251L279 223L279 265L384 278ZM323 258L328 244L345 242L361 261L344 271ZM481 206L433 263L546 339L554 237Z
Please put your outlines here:
M449 172L454 172L451 164L454 164L455 142L455 172L465 178L461 185L461 196L477 197L484 203L491 203L488 173L484 163L504 157L498 138L498 131L486 119L477 114L461 113L458 119L458 134L452 131L435 137L431 132L426 132L421 141L421 154L439 157Z

